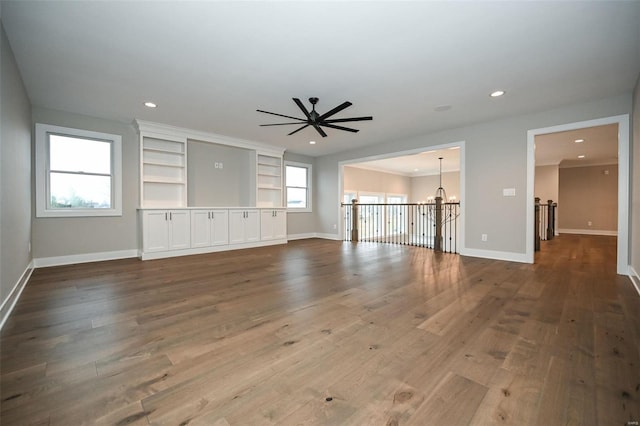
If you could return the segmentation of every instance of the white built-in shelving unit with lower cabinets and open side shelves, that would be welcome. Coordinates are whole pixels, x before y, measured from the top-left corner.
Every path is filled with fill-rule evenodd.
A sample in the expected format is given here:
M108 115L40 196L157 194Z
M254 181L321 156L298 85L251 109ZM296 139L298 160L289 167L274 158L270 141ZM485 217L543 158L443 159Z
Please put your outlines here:
M283 149L139 120L135 125L140 135L142 259L287 242ZM239 166L240 180L246 177L243 187L246 187L249 206L228 206L224 204L224 197L216 199L216 194L213 197L218 202L216 206L189 205L187 146L190 140L250 151L249 163ZM221 163L211 164L211 167L219 166ZM207 182L197 184L206 186Z

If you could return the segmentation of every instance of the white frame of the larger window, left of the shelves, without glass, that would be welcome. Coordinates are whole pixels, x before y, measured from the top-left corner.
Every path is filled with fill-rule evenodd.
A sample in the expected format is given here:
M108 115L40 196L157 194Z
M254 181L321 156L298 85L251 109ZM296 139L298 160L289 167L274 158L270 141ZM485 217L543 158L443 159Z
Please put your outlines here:
M104 140L111 144L110 209L60 209L49 205L49 134ZM36 217L122 216L122 136L36 123Z

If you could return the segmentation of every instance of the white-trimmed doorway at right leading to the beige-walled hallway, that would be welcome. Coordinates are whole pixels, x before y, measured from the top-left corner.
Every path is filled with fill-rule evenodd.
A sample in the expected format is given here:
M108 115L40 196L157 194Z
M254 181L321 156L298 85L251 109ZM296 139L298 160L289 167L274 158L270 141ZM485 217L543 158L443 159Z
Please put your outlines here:
M528 132L527 195L557 202L554 234L617 236L618 274L628 274L629 117ZM534 256L534 214L527 209L527 256Z

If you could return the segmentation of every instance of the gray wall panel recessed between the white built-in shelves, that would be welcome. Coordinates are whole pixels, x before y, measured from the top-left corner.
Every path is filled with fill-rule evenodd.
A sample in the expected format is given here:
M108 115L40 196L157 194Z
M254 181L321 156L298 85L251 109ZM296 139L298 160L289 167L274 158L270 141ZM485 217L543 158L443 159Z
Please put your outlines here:
M188 141L187 205L189 207L251 207L250 181L254 151L209 142ZM222 163L222 168L215 165Z

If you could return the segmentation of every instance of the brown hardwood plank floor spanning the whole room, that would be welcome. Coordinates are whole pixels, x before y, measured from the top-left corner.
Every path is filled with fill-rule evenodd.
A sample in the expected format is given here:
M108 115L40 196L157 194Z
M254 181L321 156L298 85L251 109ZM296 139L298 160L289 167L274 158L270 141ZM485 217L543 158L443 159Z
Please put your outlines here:
M615 238L535 265L370 243L38 269L2 425L633 425L640 297Z

